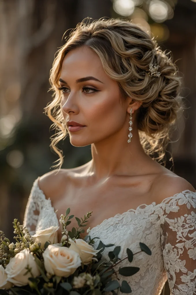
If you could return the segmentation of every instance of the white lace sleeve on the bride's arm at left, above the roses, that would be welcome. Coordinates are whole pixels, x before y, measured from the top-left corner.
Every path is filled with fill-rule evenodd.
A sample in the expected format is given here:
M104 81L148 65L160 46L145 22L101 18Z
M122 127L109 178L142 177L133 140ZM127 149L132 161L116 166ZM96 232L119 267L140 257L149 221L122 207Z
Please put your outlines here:
M30 235L35 234L38 217L42 208L42 203L45 198L43 191L38 186L38 180L35 179L27 201L25 209L23 225L29 230Z

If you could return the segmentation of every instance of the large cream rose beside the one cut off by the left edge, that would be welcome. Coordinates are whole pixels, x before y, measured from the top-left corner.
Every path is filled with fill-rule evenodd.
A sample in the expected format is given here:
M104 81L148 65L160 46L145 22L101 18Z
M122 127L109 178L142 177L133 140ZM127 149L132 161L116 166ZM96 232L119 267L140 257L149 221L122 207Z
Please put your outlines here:
M31 268L31 273L34 277L40 275L40 271L29 249L24 249L10 258L8 265L5 268L7 280L15 286L25 286L29 283L28 278L31 277L30 272L27 272L26 267Z

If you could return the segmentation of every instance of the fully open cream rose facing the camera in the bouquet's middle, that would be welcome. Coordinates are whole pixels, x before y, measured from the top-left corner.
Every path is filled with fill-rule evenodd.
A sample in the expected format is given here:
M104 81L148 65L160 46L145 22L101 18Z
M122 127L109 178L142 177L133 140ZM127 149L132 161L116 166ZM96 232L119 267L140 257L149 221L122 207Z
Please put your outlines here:
M47 273L68 277L82 264L80 255L67 247L49 245L43 253Z

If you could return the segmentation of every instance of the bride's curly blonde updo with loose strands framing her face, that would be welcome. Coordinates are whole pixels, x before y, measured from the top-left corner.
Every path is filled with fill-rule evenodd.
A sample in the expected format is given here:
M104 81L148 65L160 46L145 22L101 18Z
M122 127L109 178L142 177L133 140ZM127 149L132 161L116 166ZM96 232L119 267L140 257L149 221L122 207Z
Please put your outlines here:
M130 96L134 101L142 101L137 113L140 142L145 153L161 161L170 140L169 133L175 126L177 115L183 111L179 94L181 78L177 75L176 65L140 25L123 19L101 18L91 23L85 23L85 19L66 36L68 40L56 52L50 71L49 91L54 91L53 100L44 109L53 122L52 129L57 131L50 137L50 147L59 155L55 161L59 163L52 167L61 168L64 156L57 144L68 135L60 108L62 93L58 89L61 66L65 55L82 45L98 54L106 74L118 82L121 99ZM156 49L155 55L153 49ZM160 66L159 77L150 76L146 71L154 61ZM165 165L165 161L163 163Z

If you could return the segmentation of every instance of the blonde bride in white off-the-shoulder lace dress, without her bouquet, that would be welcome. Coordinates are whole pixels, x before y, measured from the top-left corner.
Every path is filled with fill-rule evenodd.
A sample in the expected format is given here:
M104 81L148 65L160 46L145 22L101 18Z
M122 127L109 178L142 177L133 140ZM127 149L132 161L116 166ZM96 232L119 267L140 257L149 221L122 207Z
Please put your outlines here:
M131 294L160 294L167 278L171 294L195 294L196 192L158 163L183 110L171 58L138 25L99 19L77 25L50 74L54 94L46 114L58 130L51 146L60 157L53 167L61 168L56 145L67 134L74 146L91 145L92 160L38 177L24 225L34 234L59 225L68 207L75 217L93 211L91 238L120 245L120 258L127 248L136 253L139 242L152 251L135 256L137 274L119 275ZM72 227L74 219L67 230ZM95 248L98 243L95 239ZM110 250L104 250L106 258ZM119 266L129 265L125 259Z

